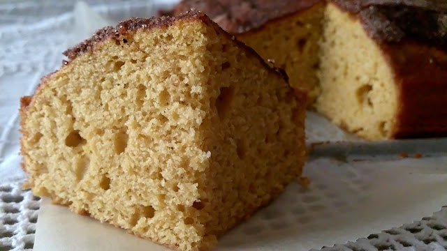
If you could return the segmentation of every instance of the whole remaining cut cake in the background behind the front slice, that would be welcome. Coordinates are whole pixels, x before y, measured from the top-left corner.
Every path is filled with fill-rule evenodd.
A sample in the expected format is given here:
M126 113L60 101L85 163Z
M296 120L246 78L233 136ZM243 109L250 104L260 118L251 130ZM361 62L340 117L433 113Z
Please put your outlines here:
M446 1L183 0L173 13L191 7L283 67L342 128L372 140L447 135Z

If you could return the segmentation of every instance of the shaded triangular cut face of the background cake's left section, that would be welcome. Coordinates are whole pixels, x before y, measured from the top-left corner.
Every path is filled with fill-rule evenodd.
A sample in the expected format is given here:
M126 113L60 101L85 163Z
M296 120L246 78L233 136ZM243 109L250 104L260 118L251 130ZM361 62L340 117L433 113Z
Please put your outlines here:
M317 3L264 24L261 28L237 35L265 60L283 68L289 83L308 91L308 104L318 96L318 40L321 37L325 3Z

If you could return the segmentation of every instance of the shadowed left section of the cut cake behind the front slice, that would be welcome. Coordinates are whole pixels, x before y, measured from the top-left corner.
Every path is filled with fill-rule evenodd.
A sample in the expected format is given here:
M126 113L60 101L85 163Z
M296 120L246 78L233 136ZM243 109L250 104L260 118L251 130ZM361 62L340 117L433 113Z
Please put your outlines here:
M252 47L266 61L286 70L292 86L318 96L318 39L322 0L183 0L173 15L202 10L223 29Z

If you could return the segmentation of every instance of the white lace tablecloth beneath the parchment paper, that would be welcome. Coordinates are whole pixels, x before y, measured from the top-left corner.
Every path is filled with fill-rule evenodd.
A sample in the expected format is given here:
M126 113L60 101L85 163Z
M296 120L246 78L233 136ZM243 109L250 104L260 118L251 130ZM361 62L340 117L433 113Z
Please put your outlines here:
M89 1L110 20L152 15L153 2ZM171 1L172 2L172 1ZM71 1L0 1L0 250L32 250L40 199L22 190L19 98L61 65L77 43ZM447 208L418 222L322 250L446 250ZM328 222L330 224L330 222Z

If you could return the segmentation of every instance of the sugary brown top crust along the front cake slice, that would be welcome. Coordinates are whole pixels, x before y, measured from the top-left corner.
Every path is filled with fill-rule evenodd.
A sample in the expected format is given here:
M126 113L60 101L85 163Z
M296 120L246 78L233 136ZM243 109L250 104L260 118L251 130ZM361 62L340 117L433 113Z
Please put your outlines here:
M154 29L156 27L171 25L177 20L201 19L203 16L204 14L200 13L200 11L191 10L187 13L182 13L177 17L132 17L129 20L119 22L115 28L112 26L106 26L105 28L96 31L91 38L66 50L64 55L68 57L69 61L73 61L73 59L84 54L85 52L90 51L93 47L95 47L95 45L103 42L106 38L119 40L119 37L125 35L127 31L135 31L137 29Z

